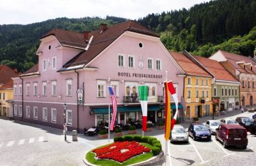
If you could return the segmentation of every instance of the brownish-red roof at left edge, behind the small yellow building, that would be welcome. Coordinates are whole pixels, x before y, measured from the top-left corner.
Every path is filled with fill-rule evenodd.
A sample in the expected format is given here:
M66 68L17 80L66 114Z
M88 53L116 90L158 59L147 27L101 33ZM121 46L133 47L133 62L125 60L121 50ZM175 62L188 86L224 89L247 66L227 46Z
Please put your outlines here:
M17 77L18 75L19 73L15 72L15 70L8 66L0 66L0 84L6 84L12 79L12 77Z

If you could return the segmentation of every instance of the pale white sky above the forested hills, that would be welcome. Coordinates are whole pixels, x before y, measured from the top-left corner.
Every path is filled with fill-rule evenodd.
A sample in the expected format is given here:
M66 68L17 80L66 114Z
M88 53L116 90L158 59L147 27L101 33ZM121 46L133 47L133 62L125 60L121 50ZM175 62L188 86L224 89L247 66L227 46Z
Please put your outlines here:
M149 13L190 8L209 0L0 0L0 24L31 24L58 17L106 15L139 19Z

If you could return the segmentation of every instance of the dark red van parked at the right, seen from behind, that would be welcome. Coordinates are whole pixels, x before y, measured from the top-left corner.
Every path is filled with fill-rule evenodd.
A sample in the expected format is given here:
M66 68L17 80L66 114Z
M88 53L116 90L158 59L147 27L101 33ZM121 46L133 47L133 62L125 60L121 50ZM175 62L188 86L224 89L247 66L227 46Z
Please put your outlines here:
M220 124L220 127L216 129L215 139L220 140L225 148L242 146L246 149L248 144L246 129L237 124Z

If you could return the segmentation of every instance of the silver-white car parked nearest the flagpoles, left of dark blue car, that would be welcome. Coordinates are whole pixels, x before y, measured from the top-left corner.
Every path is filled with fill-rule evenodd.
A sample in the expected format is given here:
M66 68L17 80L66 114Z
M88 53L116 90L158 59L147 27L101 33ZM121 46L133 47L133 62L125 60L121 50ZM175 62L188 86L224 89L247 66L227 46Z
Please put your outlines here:
M183 126L179 124L173 126L171 142L188 142L188 133Z

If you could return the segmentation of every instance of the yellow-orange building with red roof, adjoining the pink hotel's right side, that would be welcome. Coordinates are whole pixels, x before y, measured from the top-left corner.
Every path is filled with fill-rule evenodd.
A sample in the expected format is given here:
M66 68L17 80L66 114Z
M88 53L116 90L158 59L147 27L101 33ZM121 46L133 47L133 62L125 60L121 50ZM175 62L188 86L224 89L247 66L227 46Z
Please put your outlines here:
M186 119L212 115L212 75L200 68L188 52L170 51L171 56L186 73L184 77L184 101Z

